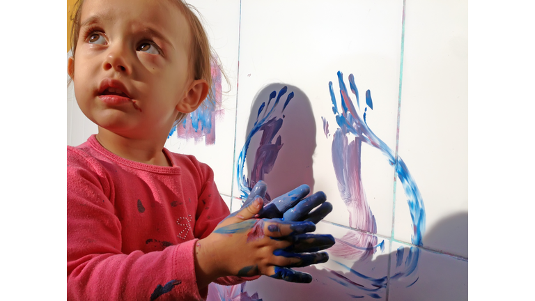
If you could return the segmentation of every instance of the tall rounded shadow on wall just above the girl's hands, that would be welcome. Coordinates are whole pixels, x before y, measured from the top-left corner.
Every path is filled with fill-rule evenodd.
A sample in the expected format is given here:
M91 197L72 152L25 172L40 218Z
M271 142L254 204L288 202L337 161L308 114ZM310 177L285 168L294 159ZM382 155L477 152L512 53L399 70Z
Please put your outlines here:
M247 135L255 125L256 116L261 120L274 106L277 97L270 100L270 94L274 92L279 96L284 86L287 87L286 93L267 118L270 124L254 134L245 157L249 187L254 187L258 180L264 180L270 198L285 194L302 184L309 185L311 192L314 187L312 156L316 150L316 121L310 100L300 88L281 83L261 88L251 105ZM293 93L293 98L284 108L290 93ZM263 104L265 107L258 115L258 109ZM281 123L279 130L275 123ZM258 148L261 142L263 145Z

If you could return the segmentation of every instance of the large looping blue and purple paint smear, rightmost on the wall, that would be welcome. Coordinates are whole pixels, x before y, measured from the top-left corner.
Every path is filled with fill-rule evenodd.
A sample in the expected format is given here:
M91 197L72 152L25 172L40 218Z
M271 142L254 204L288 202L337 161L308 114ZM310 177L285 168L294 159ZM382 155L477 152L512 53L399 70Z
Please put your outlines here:
M367 231L369 233L376 233L375 217L366 202L366 195L362 189L362 175L361 169L361 146L362 143L369 144L373 148L377 148L387 157L389 164L395 167L397 178L401 180L405 195L408 198L410 208L410 215L412 217L412 244L421 245L426 226L426 214L424 209L424 202L421 199L419 189L414 182L414 179L409 173L408 167L401 157L394 154L394 152L381 139L379 139L366 123L367 107L364 109L364 114L361 118L359 112L361 108L359 105L359 92L355 84L355 77L350 75L348 77L350 90L355 95L357 106L353 104L348 94L346 84L343 82L343 75L338 72L339 88L341 96L341 108L336 103L336 96L332 87L332 82L329 82L329 93L332 101L332 112L336 118L338 128L333 134L332 141L332 163L336 173L336 180L338 183L341 197L348 207L350 213L349 224L352 228ZM371 91L366 91L366 105L372 110L373 102L371 98ZM324 129L328 128L328 122L323 119ZM327 132L325 131L327 137ZM350 233L336 240L336 245L329 249L330 252L341 258L350 258L353 260L362 260L371 256L377 246L377 238L375 236L366 235L357 231L350 231ZM390 281L395 281L402 277L412 275L417 268L419 249L417 247L410 247L408 257L405 260L405 266L401 271L396 272L390 276ZM401 267L403 258L403 249L398 249L396 252L396 267ZM341 275L339 272L329 270L333 277L329 277L338 284L346 287L356 288L360 291L380 291L386 288L387 277L373 278L367 277L356 270L334 261L341 266L343 270L356 275L368 285L358 284L351 281L347 277ZM418 278L417 278L418 279ZM414 282L417 281L414 280ZM412 284L414 284L412 282ZM412 286L410 284L410 286ZM372 298L380 298L376 293L368 294ZM352 295L353 296L353 295ZM357 298L357 296L354 296ZM364 296L362 296L364 297ZM359 296L358 298L362 298Z

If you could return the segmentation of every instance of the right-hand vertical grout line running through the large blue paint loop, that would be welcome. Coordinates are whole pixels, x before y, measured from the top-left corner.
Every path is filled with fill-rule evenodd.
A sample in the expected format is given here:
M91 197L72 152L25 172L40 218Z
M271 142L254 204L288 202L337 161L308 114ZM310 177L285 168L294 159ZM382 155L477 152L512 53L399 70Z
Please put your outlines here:
M394 165L396 169L394 170L394 193L392 197L392 226L391 226L391 233L390 233L390 246L389 246L389 254L388 254L388 272L387 272L387 294L386 294L386 300L388 301L389 293L390 293L390 268L391 268L391 250L392 250L392 242L396 241L394 239L394 229L395 229L395 222L396 222L396 190L397 190L397 183L398 183L398 177L397 177L397 167L398 167L398 150L399 150L399 123L401 120L401 88L403 84L403 53L405 50L405 0L403 0L403 8L401 13L401 58L399 63L399 89L398 89L398 116L397 116L397 123L396 123L396 157L394 160L396 160L396 164Z

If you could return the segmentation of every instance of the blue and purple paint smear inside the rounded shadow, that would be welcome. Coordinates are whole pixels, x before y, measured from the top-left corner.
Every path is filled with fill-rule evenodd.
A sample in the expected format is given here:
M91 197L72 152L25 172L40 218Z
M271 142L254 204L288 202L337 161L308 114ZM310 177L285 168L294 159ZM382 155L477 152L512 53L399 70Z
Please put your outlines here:
M245 140L245 144L242 147L240 156L238 157L238 172L236 173L236 176L238 177L238 188L240 189L242 200L247 199L252 187L254 187L259 180L264 180L264 176L272 171L275 160L277 160L277 155L279 155L279 151L284 145L282 143L281 135L279 135L273 143L274 137L277 135L282 127L282 123L284 122L284 115L282 118L280 118L274 116L274 112L279 106L281 97L285 95L287 91L288 86L284 86L281 88L278 94L277 91L272 91L272 93L270 93L270 98L267 100L267 104L262 102L262 105L256 114L256 121L253 125L253 128L249 134L247 134L247 139ZM284 102L284 107L282 107L281 114L284 112L284 109L286 109L286 106L288 106L290 100L292 100L293 95L294 93L290 92L286 96L286 101ZM274 100L273 103L272 100ZM272 105L271 108L270 105ZM251 169L251 178L249 179L245 174L245 158L247 157L247 151L249 150L251 139L258 132L262 132L262 138L260 141L260 146L258 146L256 149L254 164ZM266 193L265 199L270 201L271 196Z

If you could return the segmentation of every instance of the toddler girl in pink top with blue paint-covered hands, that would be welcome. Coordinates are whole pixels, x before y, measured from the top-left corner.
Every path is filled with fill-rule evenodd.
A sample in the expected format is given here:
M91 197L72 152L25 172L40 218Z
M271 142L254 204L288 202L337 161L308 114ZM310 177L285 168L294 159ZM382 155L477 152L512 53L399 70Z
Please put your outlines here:
M290 268L327 261L332 236L307 234L332 208L325 194L263 206L259 183L229 215L212 169L164 148L206 99L211 60L182 1L78 3L68 74L98 134L67 148L69 300L201 300L212 281L310 282Z

